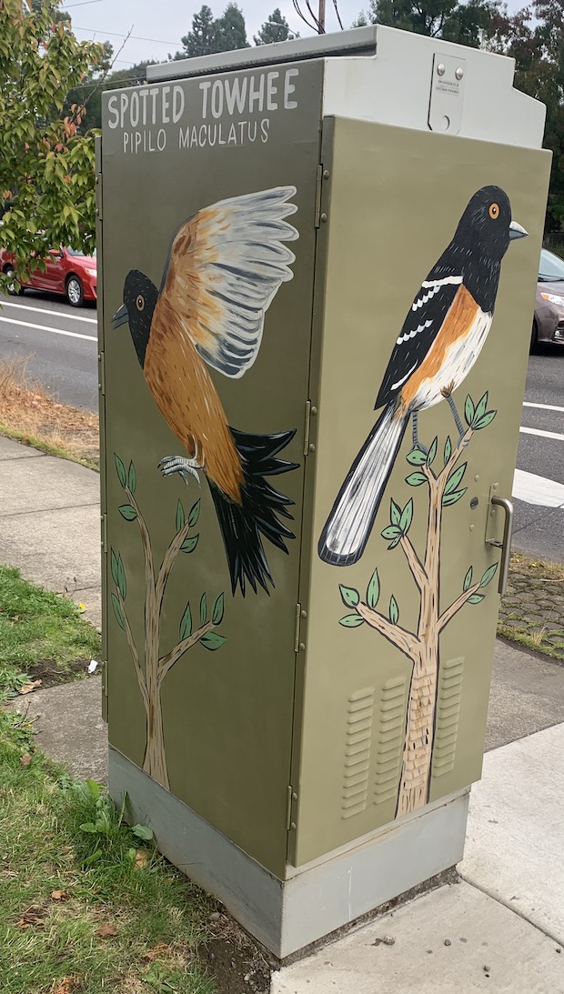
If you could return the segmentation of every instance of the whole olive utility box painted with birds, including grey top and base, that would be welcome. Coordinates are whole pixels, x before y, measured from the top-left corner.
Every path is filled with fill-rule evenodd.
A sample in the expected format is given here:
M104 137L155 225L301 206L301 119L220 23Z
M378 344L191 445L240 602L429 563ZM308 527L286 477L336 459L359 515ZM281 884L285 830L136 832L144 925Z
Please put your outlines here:
M380 27L147 75L97 163L110 790L284 957L462 857L544 108Z

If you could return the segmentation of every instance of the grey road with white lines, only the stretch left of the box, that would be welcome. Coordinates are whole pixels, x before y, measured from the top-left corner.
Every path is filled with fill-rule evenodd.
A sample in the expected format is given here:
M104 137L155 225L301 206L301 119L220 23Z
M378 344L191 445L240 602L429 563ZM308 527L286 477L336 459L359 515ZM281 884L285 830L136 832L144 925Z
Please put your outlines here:
M58 401L97 411L95 305L75 308L34 290L3 297L1 303L0 357L30 357L30 380L47 387Z

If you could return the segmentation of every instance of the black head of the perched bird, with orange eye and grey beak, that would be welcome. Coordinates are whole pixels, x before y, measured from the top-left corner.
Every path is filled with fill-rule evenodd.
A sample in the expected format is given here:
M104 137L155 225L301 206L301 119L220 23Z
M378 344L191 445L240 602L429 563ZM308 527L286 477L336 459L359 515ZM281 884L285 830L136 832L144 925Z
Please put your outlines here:
M511 205L505 191L486 186L471 198L454 242L483 261L500 264L509 242L526 234L524 228L511 221Z

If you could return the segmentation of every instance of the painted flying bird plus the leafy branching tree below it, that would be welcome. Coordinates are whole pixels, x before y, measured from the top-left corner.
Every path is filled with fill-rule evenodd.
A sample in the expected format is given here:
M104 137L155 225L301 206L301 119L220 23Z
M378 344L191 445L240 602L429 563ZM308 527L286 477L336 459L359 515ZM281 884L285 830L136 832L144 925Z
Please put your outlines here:
M209 485L231 577L232 593L243 596L275 585L268 543L287 553L293 533L285 521L293 503L270 482L297 468L280 453L295 433L239 430L228 421L207 367L240 379L255 362L263 337L265 315L283 282L292 278L293 252L284 244L297 239L285 219L296 211L295 188L277 187L223 200L184 222L174 234L160 288L149 276L131 269L125 276L123 304L113 316L115 328L127 323L147 387L160 413L180 442L177 455L158 463L164 477L178 474L188 485ZM126 577L120 555L110 552L113 612L124 631L147 719L143 769L168 786L160 691L162 681L188 649L199 644L220 648L217 632L224 614L224 593L208 609L202 594L199 624L190 604L179 622L179 641L162 652L160 615L166 583L180 553L193 553L198 535L191 534L200 501L188 515L182 501L176 509L176 530L168 550L155 566L149 531L135 495L136 473L127 471L115 453L119 483L126 502L119 512L137 522L145 568L144 639L135 645L125 606ZM155 467L156 468L156 467ZM282 519L285 519L282 520Z

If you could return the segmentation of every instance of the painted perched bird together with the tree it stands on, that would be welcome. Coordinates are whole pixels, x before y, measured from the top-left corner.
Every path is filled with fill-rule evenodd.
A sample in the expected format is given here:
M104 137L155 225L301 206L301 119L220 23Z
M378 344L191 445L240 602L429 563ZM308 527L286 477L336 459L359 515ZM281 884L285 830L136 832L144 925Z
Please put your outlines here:
M400 624L394 594L386 613L377 610L381 579L377 569L364 598L355 587L339 584L341 598L350 608L339 623L351 628L368 624L413 664L397 816L429 800L441 632L465 604L483 600L481 591L497 569L494 563L477 579L470 565L461 577L461 593L441 611L443 512L466 493L463 482L468 462L460 463L461 456L472 435L486 428L496 414L488 410L486 391L477 403L467 397L463 422L453 394L470 373L491 327L503 256L510 241L526 234L511 220L509 199L499 187L483 187L470 198L452 242L411 304L376 399L375 410L382 408L382 413L352 463L319 538L323 562L346 567L360 560L411 421L413 447L406 458L412 471L406 482L426 488L425 549L418 552L409 537L413 498L404 507L391 498L390 524L381 534L389 550L402 550L418 588L417 630ZM457 439L453 442L448 435L438 458L439 438L425 446L418 418L421 411L443 400L451 407Z

